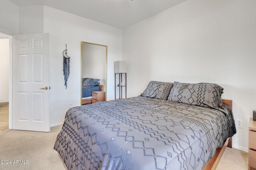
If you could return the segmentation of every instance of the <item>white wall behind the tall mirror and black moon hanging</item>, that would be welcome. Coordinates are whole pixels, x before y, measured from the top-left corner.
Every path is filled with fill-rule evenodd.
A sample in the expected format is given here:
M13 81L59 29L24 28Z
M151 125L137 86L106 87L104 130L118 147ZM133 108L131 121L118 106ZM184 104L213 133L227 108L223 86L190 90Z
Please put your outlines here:
M80 105L81 41L108 45L107 99L114 99L114 61L122 59L122 30L44 6L44 32L50 33L50 123L63 122L68 104ZM62 52L70 58L68 88L64 86Z

